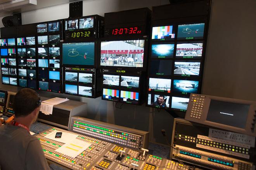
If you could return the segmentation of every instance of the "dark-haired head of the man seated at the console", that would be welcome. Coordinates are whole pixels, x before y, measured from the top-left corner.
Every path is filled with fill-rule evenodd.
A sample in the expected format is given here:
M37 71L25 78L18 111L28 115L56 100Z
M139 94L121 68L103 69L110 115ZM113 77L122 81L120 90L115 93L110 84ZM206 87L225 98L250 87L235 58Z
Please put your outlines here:
M38 93L30 88L23 88L14 97L15 117L26 117L33 112L37 118L40 105L41 100Z

